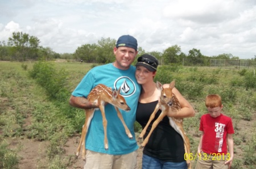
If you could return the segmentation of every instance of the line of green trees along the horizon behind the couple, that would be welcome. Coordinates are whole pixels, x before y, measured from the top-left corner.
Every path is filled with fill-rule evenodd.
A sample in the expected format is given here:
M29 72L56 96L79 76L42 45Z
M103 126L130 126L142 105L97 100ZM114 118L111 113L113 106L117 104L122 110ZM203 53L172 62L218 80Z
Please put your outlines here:
M113 54L113 47L116 40L108 38L101 38L97 43L84 44L78 47L74 53L56 53L49 47L40 46L38 37L30 36L28 33L13 32L9 37L7 43L0 41L0 60L6 61L28 61L28 60L53 60L55 58L65 58L73 60L83 60L88 63L106 64L115 60ZM192 65L207 65L207 60L210 59L225 59L225 60L239 60L238 56L232 54L219 54L217 56L205 56L200 52L200 49L191 49L188 54L181 51L178 45L172 45L163 52L151 51L146 52L142 47L138 47L138 57L144 53L149 53L158 58L163 65L181 64L183 59L191 61ZM251 58L256 61L256 56Z

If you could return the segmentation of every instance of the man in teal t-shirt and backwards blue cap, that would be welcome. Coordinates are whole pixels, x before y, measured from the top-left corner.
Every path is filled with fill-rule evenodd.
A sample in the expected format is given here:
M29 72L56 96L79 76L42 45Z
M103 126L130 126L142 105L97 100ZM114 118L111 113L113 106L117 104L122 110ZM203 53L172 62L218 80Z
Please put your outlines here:
M86 162L84 168L136 168L138 145L134 134L135 112L141 86L135 78L133 63L137 56L137 40L130 35L123 35L117 40L114 47L115 61L110 64L96 66L82 78L76 89L72 92L69 104L74 107L89 109L98 108L95 103L86 99L89 92L97 84L105 84L118 90L131 108L130 112L121 111L123 119L133 139L126 136L122 122L117 116L113 105L105 105L106 119L108 120L109 149L104 147L104 130L100 110L94 113L86 137Z

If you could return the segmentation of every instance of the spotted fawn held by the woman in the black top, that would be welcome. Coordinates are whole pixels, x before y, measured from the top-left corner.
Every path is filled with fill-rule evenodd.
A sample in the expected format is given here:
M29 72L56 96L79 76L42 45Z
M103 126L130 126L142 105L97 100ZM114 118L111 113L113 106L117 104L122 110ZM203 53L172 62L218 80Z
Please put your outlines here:
M144 134L146 133L148 125L154 119L155 113L158 112L159 108L162 110L162 112L160 113L158 119L156 119L154 121L154 123L152 124L150 133L148 133L147 137L142 142L141 147L144 147L147 144L148 139L150 138L153 130L156 128L156 126L159 124L159 122L161 120L163 120L163 118L167 115L167 113L169 111L169 107L171 107L172 111L174 111L174 112L179 111L181 109L179 100L177 100L176 96L172 93L172 88L174 88L174 86L175 86L175 81L172 81L170 83L169 88L163 88L163 86L160 82L156 82L156 88L158 88L158 90L161 91L159 103L156 105L154 112L151 114L150 119L148 120L147 125L142 130L141 134L139 135L139 138L143 138ZM174 128L176 130L176 132L178 132L181 135L181 137L183 138L184 148L185 148L184 157L186 157L186 159L187 159L188 168L191 168L191 162L188 157L188 155L190 153L190 143L189 143L189 139L183 129L183 119L175 118L175 117L168 117L168 118L169 118L170 125L172 126L172 128Z

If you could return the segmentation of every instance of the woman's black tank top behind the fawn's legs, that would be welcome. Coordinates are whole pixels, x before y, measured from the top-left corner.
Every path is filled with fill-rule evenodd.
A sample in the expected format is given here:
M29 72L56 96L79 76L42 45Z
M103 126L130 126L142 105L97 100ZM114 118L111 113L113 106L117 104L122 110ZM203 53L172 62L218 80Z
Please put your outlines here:
M150 119L151 113L154 111L158 101L151 103L138 103L136 120L144 128ZM158 118L161 111L159 110L155 119L148 126L144 138L150 132L153 122ZM143 149L143 153L151 157L164 160L165 162L183 162L184 161L184 142L179 133L177 133L169 123L166 116L159 122L158 126L152 132L147 145Z

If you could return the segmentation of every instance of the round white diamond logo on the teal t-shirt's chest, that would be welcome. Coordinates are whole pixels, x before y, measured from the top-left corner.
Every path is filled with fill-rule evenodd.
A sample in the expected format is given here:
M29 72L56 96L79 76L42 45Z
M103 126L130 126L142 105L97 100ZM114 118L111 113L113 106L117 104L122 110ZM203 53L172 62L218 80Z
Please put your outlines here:
M129 77L120 77L114 83L115 90L121 87L120 94L123 97L129 97L136 91L135 83Z

